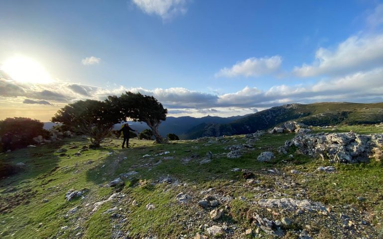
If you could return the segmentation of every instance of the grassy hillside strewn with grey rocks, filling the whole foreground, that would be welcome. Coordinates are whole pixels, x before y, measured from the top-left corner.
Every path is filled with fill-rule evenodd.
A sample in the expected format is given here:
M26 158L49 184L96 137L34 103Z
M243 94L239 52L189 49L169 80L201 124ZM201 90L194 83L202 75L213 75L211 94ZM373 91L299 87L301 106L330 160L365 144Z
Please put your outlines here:
M2 154L20 172L0 181L0 235L382 237L383 128L281 128L169 144L133 139L124 150L117 139L94 150L75 137Z

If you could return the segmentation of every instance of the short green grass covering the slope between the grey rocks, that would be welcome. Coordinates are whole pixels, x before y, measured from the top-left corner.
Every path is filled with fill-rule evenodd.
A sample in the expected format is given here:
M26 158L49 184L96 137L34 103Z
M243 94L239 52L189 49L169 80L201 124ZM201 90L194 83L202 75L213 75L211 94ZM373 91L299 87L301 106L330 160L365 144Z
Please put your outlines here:
M316 131L331 131L331 129L315 128ZM354 130L361 133L383 132L383 127L376 126L340 126L335 131ZM244 142L243 136L227 137L222 144L203 146L206 141L179 141L175 144L152 144L151 141L131 140L133 148L121 150L120 140L113 140L104 144L101 149L89 150L81 156L73 156L78 149L68 149L70 157L60 157L57 148L78 145L80 148L87 144L84 139L76 138L39 146L37 148L22 149L0 155L5 162L24 162L26 167L22 173L2 179L0 181L0 237L2 238L74 238L79 232L82 238L110 238L115 230L114 221L110 215L104 214L106 209L114 204L108 202L93 214L87 204L108 198L116 189L102 186L114 179L118 174L136 170L135 179L125 180L122 193L126 195L121 199L118 207L127 215L127 221L121 224L121 231L129 232L130 236L143 237L150 233L160 238L176 238L185 231L189 235L199 232L199 225L188 225L191 217L201 210L195 207L198 198L193 198L191 205L182 205L175 201L175 196L181 192L199 195L199 191L210 187L219 188L222 194L234 198L245 196L254 198L256 192L243 187L244 179L240 173L232 172L232 168L246 168L256 173L257 179L262 180L262 186L281 190L275 184L278 180L285 180L283 176L271 177L262 169L277 168L289 174L291 169L303 172L312 172L327 162L311 160L302 155L295 155L288 159L285 155L277 156L271 163L260 163L256 157L260 152L276 150L284 142L292 138L293 134L266 134L261 140L255 142L255 150L239 159L227 159L224 156L215 157L211 163L199 165L198 162L184 164L182 159L191 153L204 156L207 151L213 154L227 152L228 145ZM145 154L156 154L170 151L166 156L175 156L175 159L164 160L158 166L153 163L161 159L142 158ZM293 151L289 153L294 153ZM283 160L286 160L283 162ZM339 205L352 204L360 210L375 212L371 219L377 228L382 220L383 175L382 164L370 163L361 165L336 165L339 173L318 174L306 177L301 187L307 188L308 196L313 201L326 204ZM155 184L160 176L171 175L182 183L178 187L167 184ZM290 175L291 180L301 181L302 175ZM234 180L231 181L231 180ZM141 181L141 186L137 186ZM66 201L65 193L70 189L85 189L85 199ZM287 188L285 193L293 193ZM325 193L324 193L325 192ZM360 202L358 196L368 200ZM201 197L201 196L198 196ZM43 202L44 199L49 200ZM201 199L201 198L199 198ZM137 207L131 206L131 201L137 200ZM156 209L148 211L145 205L153 203ZM75 215L64 217L68 210L79 206ZM223 221L237 223L238 235L242 230L251 227L246 220L246 211L253 208L251 202L233 200L230 203L231 213ZM208 213L203 214L202 221L208 220ZM41 226L39 225L41 224ZM202 223L203 224L203 223ZM76 225L80 229L75 231ZM70 230L61 227L70 226ZM302 225L301 225L302 226ZM304 225L303 225L304 226ZM298 227L298 226L297 226ZM300 226L299 226L300 227ZM315 229L316 230L316 229ZM319 230L319 229L318 229ZM325 229L324 229L325 230ZM322 233L322 232L320 232ZM326 231L326 233L333 233ZM239 236L234 238L239 238ZM335 235L335 234L334 234Z

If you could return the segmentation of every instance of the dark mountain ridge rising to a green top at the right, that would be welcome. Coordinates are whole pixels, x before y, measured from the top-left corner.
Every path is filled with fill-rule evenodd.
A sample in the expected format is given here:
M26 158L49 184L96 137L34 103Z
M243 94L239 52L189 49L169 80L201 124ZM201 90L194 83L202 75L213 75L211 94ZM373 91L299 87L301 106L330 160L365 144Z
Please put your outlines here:
M273 107L229 123L201 123L189 129L183 137L221 136L253 133L288 120L308 125L372 124L383 121L383 103L314 103L289 104Z

